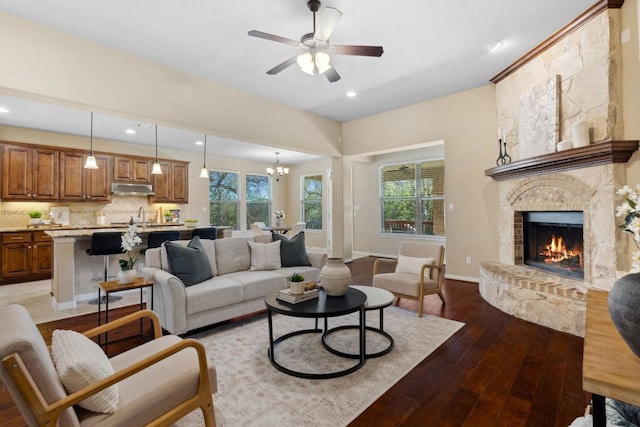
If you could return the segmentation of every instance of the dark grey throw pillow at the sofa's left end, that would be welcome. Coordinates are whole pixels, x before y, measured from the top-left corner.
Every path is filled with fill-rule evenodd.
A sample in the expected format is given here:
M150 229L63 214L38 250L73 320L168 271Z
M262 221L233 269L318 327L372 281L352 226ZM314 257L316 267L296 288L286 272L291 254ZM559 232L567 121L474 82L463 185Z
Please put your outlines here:
M184 283L185 286L195 285L213 277L211 264L200 238L194 236L187 246L178 243L164 242L171 272Z

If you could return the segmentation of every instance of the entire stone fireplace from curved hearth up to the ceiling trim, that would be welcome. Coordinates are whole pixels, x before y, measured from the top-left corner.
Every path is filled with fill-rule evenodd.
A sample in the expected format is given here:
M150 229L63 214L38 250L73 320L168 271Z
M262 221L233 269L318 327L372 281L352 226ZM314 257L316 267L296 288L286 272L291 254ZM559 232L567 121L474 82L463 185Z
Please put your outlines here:
M595 4L491 80L513 161L485 171L498 181L499 259L481 264L480 293L504 312L578 336L588 290L610 289L629 268L615 191L638 142L622 141L620 7ZM589 144L557 151L578 122Z

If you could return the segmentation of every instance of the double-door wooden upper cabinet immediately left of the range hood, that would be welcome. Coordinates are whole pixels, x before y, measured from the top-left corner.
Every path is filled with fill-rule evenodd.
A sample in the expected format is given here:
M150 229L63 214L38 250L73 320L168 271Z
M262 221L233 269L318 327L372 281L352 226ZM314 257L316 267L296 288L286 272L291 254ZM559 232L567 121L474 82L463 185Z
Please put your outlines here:
M60 200L111 201L111 156L95 154L98 169L85 169L87 155L60 152Z

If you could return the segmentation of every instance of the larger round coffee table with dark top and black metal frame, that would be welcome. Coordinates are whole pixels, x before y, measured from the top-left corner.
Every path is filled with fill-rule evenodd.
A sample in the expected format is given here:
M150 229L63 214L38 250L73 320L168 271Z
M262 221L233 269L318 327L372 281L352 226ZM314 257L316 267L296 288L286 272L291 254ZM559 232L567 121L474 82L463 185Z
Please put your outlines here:
M364 317L364 308L365 302L367 300L367 296L354 288L349 288L347 293L343 296L333 297L328 296L327 293L320 289L320 296L318 298L314 298L311 300L299 302L297 304L290 304L284 301L280 301L276 298L278 292L272 292L267 295L264 299L265 305L267 306L267 320L269 322L269 361L271 364L281 372L285 374L293 375L299 378L308 378L308 379L327 379L327 378L336 378L343 375L350 374L352 372L357 371L358 369L364 366L366 361L366 332L365 332L365 317ZM344 316L346 314L354 313L358 311L360 313L360 325L356 326L360 330L359 335L359 344L360 344L360 353L357 357L359 362L347 369L343 369L340 371L334 372L326 372L326 373L308 373L308 372L299 372L293 369L286 368L282 366L276 360L275 356L275 347L278 343L291 338L296 335L309 334L309 333L326 333L327 331L327 318L329 317L337 317ZM292 317L305 317L312 318L316 320L316 327L314 329L301 329L298 331L289 332L288 334L282 335L277 339L273 339L273 313L280 313L285 316ZM324 318L324 329L318 328L318 319ZM349 356L350 358L354 358Z

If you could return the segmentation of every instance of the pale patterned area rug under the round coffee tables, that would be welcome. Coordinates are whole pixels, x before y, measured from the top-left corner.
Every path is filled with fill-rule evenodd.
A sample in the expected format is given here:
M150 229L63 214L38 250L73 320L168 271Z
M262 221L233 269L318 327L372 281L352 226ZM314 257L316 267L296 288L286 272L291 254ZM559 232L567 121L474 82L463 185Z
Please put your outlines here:
M367 324L378 325L377 311L367 312ZM356 324L354 315L329 319L329 327ZM314 327L313 319L274 315L274 336ZM204 343L218 373L214 395L219 427L345 426L371 405L464 324L415 311L388 307L384 329L394 338L393 350L368 359L358 371L339 378L308 380L276 370L269 362L266 315L194 335ZM330 336L330 345L346 353L357 351L357 330ZM357 360L327 352L321 334L304 334L276 347L276 360L304 372L327 372L349 367ZM329 338L329 337L328 337ZM367 351L388 345L386 338L367 331ZM179 427L203 425L199 411L180 420Z

